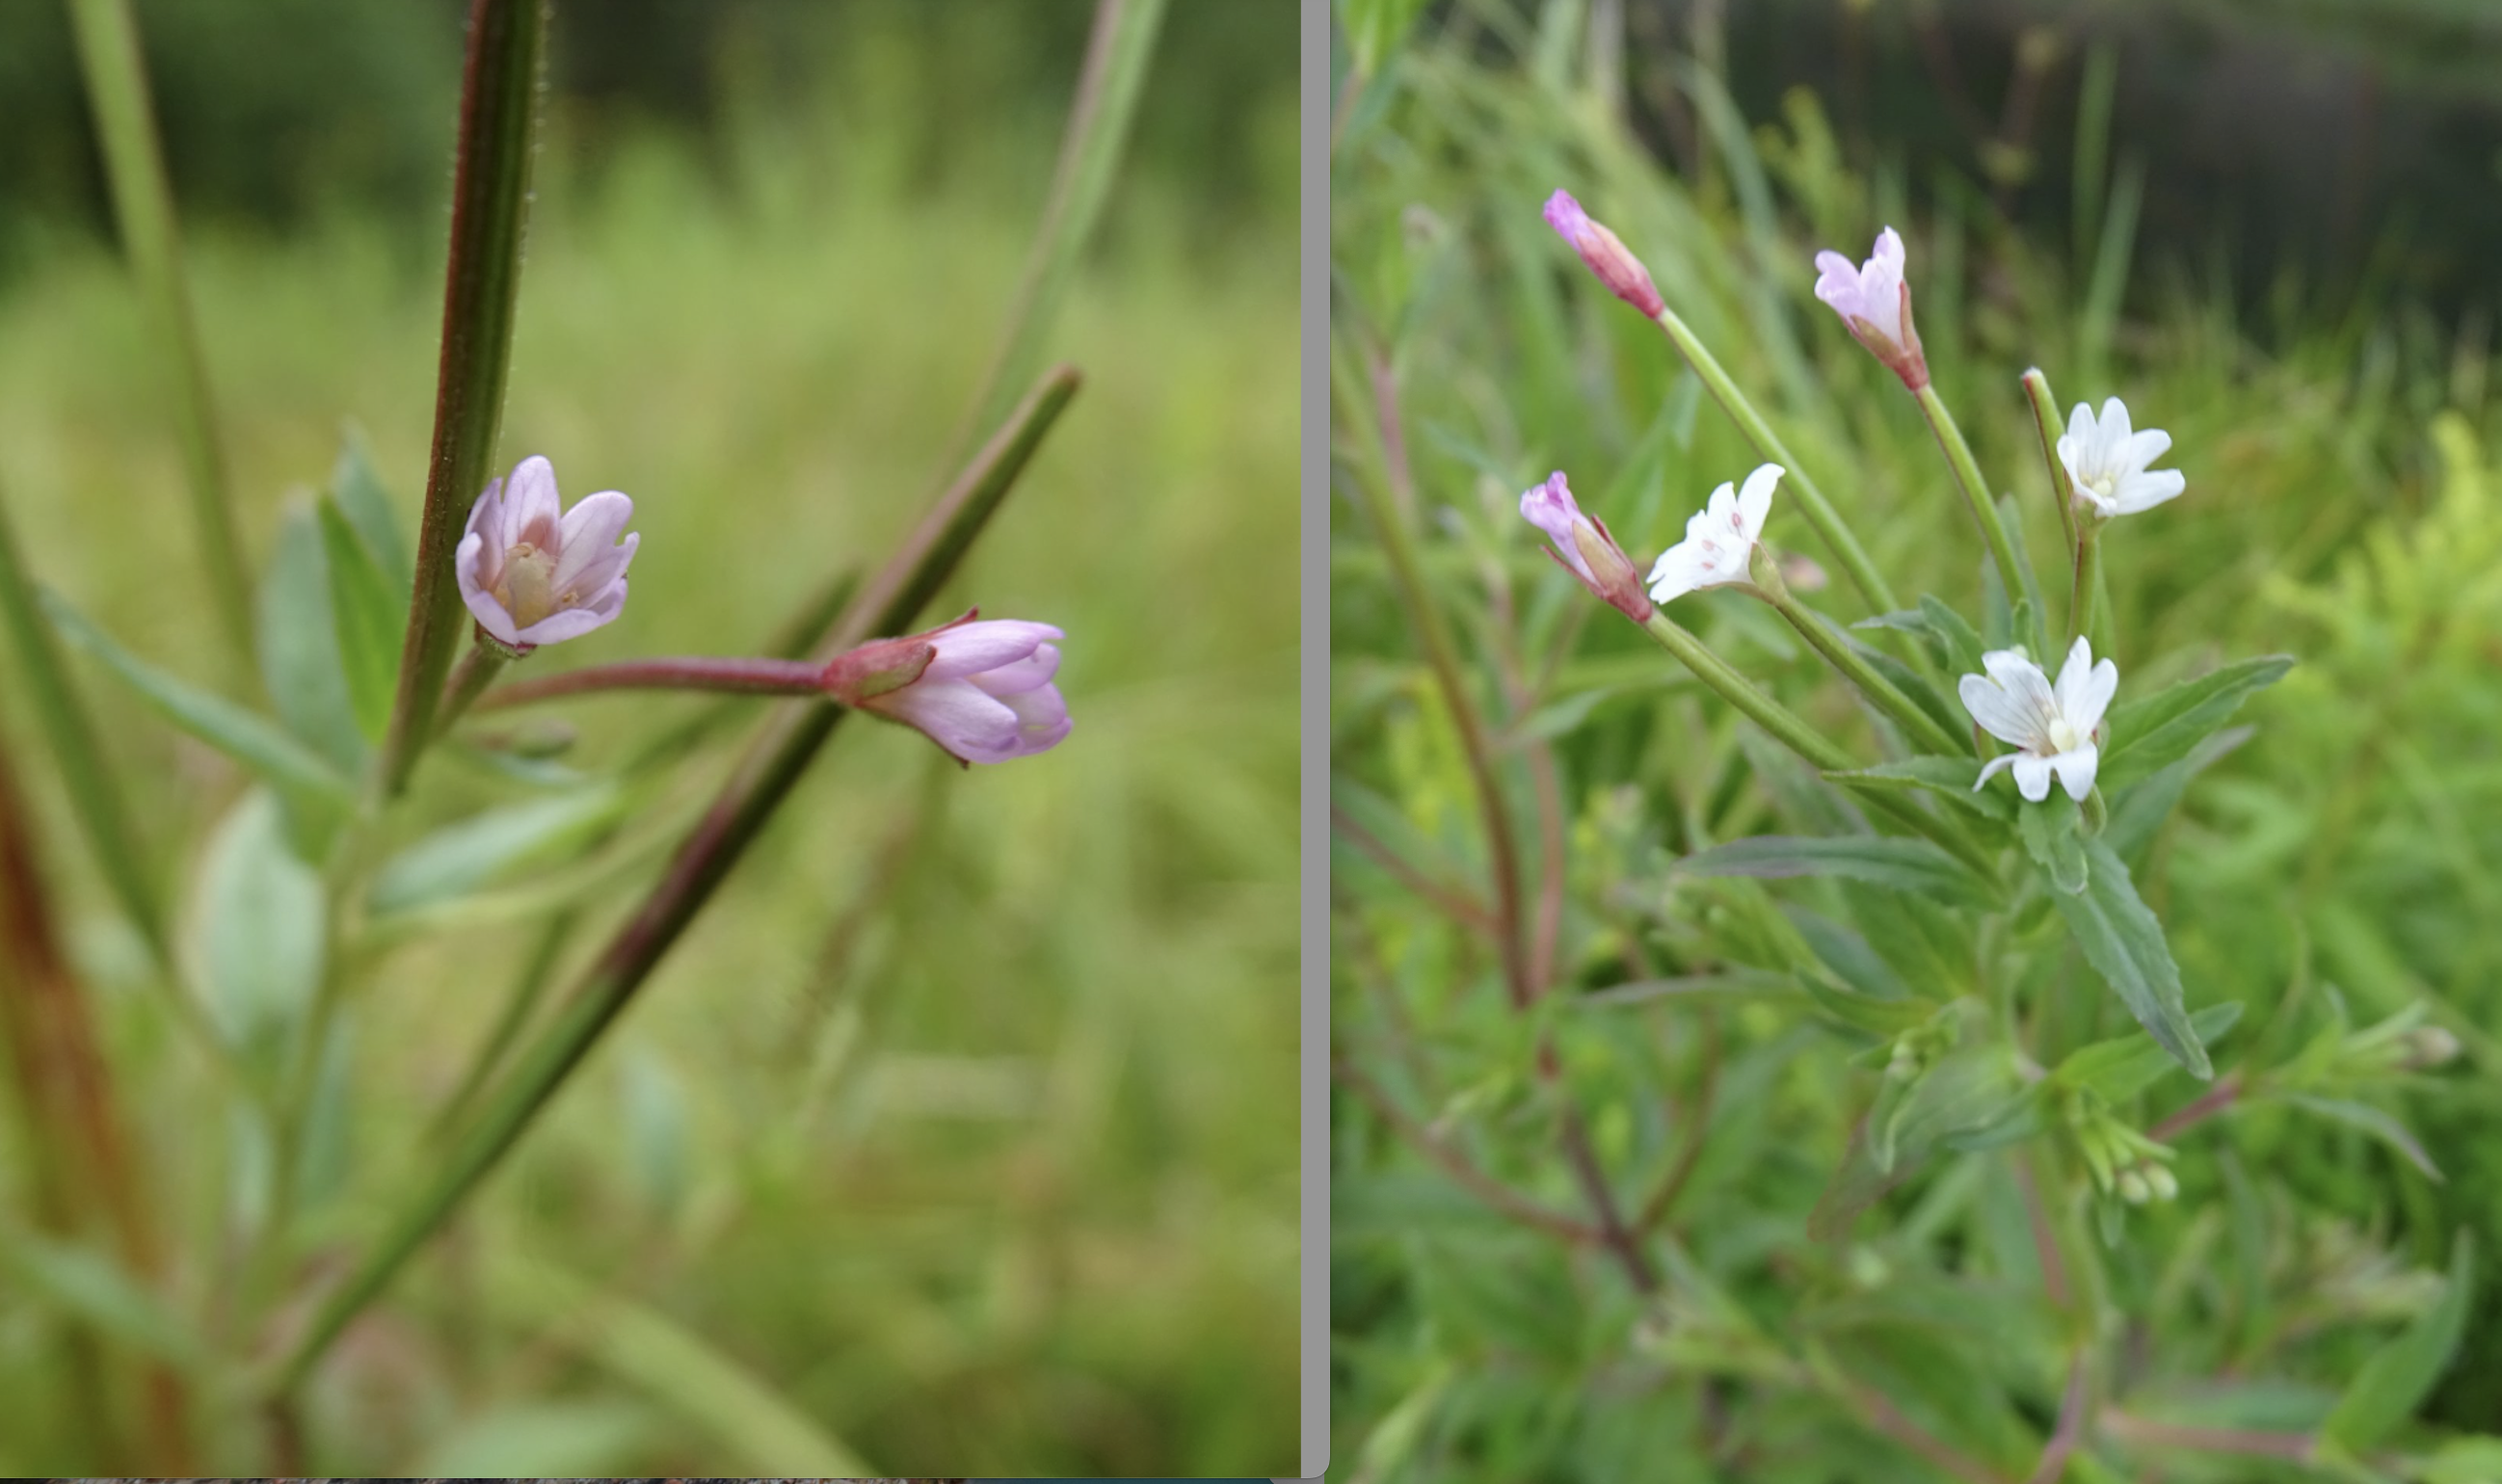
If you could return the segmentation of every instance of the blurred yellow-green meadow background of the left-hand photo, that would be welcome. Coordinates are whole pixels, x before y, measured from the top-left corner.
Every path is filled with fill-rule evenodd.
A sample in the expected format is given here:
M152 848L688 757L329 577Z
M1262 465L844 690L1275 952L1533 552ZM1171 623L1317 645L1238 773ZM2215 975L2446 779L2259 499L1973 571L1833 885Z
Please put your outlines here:
M343 420L413 531L460 8L138 18L253 556ZM1083 0L558 8L500 458L550 455L568 498L628 490L643 548L626 616L533 668L756 653L903 533L993 355L1088 20ZM903 728L846 728L553 1116L343 1341L313 1394L323 1469L1291 1471L1294 35L1286 0L1171 8L1051 340L1086 388L938 603L1063 626L1076 736L963 773ZM58 8L0 10L0 490L43 581L213 676L83 108ZM168 888L188 881L240 778L80 678ZM683 703L560 716L595 768ZM225 1184L205 1079L135 988L13 701L0 733L43 793L185 1254L175 1296L208 1311L248 1181ZM513 796L430 771L445 816ZM528 941L478 923L383 961L308 1271L400 1194ZM45 1334L40 1299L0 1289L13 1474L63 1471L63 1419L20 1404L55 1384Z

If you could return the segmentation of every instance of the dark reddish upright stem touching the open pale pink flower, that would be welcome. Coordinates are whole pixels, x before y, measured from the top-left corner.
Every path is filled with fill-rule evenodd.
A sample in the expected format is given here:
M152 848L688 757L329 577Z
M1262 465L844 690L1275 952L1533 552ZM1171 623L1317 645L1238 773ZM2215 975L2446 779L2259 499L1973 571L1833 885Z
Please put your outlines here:
M453 551L470 506L485 490L503 418L545 45L545 0L470 0L453 235L443 270L435 440L425 468L425 513L418 521L418 576L408 603L408 643L400 651L400 693L383 738L385 796L408 786L418 753L440 733L435 706L468 621L453 578Z

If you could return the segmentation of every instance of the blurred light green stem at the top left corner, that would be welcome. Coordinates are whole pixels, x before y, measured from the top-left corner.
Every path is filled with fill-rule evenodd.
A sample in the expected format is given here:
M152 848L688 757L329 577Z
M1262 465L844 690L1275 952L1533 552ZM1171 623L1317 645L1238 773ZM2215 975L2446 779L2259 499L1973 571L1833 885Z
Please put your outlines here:
M158 153L138 25L130 20L130 0L70 0L70 25L78 33L78 63L88 78L88 105L95 113L95 138L105 155L105 180L113 188L113 215L123 228L123 250L130 253L130 273L148 300L150 328L173 383L183 475L190 483L190 513L200 533L200 561L208 566L218 626L233 643L238 673L250 673L253 581L243 563L243 541L235 536L235 511L225 488L225 455L218 448L218 418L208 395L208 368L200 358L200 328L183 288L173 188L165 183L165 158Z

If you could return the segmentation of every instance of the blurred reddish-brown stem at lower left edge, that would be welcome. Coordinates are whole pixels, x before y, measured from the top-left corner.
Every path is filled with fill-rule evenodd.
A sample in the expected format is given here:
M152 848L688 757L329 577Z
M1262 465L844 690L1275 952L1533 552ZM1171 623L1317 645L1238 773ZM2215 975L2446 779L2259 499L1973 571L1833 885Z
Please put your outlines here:
M70 973L53 928L53 903L35 856L33 821L0 756L0 1036L13 1064L35 1156L35 1199L45 1221L70 1236L103 1226L123 1264L140 1279L158 1274L158 1234L135 1156L113 1099L113 1071L88 999ZM90 1364L93 1336L73 1339L73 1379L103 1379ZM153 1474L188 1474L188 1399L180 1374L153 1361L145 1386L145 1446ZM93 1419L110 1416L93 1396ZM85 1406L83 1406L85 1409Z

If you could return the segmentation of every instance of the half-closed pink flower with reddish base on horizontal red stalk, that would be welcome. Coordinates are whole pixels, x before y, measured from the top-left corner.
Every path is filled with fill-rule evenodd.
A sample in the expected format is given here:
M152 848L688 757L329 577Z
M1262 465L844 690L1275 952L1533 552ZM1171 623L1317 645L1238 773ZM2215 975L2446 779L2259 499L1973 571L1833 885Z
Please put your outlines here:
M1068 736L1068 703L1051 676L1061 631L978 608L906 638L876 638L826 666L823 688L843 706L901 721L963 763L1048 753Z

